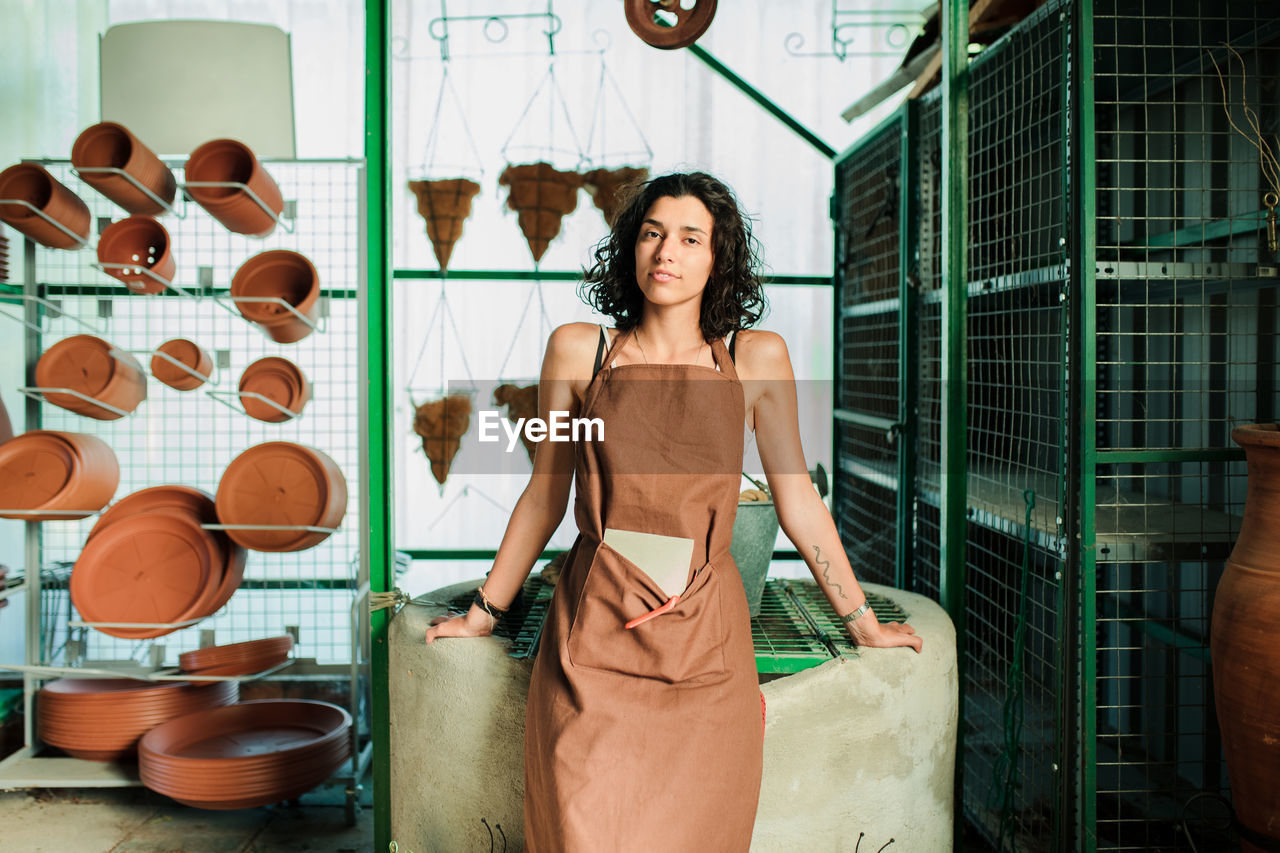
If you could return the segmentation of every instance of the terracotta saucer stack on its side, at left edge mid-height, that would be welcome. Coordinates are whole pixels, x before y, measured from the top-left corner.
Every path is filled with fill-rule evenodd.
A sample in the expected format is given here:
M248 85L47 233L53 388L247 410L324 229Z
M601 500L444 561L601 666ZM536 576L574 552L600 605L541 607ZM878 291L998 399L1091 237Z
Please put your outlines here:
M119 484L115 453L96 435L33 429L0 446L0 517L83 519Z

